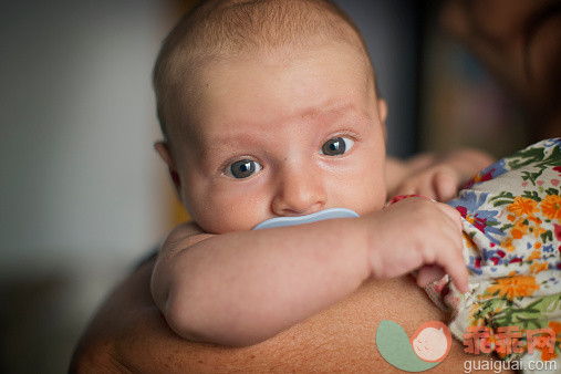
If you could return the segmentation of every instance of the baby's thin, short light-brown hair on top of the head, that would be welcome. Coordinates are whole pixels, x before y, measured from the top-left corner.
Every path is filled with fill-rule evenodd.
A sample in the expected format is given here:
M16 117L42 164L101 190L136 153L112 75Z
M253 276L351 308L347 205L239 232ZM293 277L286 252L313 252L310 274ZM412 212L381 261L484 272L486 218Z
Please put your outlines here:
M153 73L157 115L169 135L169 102L177 92L193 93L197 73L227 56L283 45L307 48L351 42L372 62L359 28L328 0L208 0L199 2L164 40ZM375 84L375 82L373 82ZM181 91L178 91L181 90Z

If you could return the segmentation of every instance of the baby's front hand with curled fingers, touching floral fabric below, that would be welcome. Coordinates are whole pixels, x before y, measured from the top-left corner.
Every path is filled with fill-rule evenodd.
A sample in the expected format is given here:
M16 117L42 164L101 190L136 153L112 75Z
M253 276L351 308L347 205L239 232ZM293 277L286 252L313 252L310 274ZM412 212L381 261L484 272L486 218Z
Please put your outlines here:
M370 226L368 261L374 278L393 278L422 269L417 282L426 285L448 273L468 291L461 256L461 220L456 209L424 198L407 198L364 217Z

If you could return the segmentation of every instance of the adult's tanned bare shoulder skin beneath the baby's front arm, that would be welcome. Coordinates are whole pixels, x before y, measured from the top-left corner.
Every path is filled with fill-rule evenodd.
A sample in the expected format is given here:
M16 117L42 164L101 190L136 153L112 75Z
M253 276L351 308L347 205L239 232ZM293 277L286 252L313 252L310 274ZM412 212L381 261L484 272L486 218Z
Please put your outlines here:
M423 322L449 318L411 277L402 277L366 282L344 301L257 345L194 343L173 333L154 304L153 267L154 261L145 263L105 301L74 352L71 373L395 373L376 349L380 321L393 320L411 335ZM434 372L460 372L466 360L488 359L463 353L461 342L454 341L450 354Z

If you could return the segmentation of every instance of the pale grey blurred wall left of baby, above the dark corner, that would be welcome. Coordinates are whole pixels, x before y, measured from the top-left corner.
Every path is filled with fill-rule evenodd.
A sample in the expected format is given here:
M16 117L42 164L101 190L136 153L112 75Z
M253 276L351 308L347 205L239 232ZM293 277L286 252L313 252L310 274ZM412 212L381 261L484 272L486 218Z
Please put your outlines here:
M155 1L1 12L2 264L137 254L162 230L150 69Z

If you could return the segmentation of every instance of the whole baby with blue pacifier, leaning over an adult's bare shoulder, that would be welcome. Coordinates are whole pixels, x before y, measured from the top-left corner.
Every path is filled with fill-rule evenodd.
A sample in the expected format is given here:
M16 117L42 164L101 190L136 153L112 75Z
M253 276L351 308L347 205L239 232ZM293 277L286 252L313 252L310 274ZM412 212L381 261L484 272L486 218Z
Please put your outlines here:
M416 269L419 285L446 272L467 291L458 211L425 198L384 208L386 177L406 166L393 160L386 176L386 103L356 27L332 3L204 2L166 39L154 83L156 149L194 220L168 235L152 278L177 334L254 344L370 278ZM485 166L464 156L418 185L438 195ZM334 207L360 218L251 230Z

